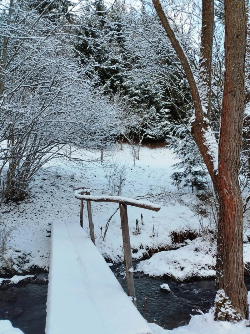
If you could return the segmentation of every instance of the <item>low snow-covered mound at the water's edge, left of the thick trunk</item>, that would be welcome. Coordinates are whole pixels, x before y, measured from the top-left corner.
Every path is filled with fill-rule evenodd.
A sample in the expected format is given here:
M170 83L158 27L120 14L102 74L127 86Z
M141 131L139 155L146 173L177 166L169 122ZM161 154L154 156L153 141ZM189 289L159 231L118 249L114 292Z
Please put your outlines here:
M194 276L215 276L216 247L197 238L174 251L154 254L149 260L140 262L136 270L149 276L170 276L184 281Z

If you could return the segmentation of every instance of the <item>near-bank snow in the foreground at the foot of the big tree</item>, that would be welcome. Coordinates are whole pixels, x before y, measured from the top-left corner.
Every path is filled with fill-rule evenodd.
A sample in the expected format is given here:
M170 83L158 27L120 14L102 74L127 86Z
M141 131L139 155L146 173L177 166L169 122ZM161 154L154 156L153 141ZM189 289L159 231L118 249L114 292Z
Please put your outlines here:
M181 326L173 330L163 329L156 324L149 324L154 334L250 334L247 321L232 324L227 321L215 321L212 310L209 313L195 315L187 326Z

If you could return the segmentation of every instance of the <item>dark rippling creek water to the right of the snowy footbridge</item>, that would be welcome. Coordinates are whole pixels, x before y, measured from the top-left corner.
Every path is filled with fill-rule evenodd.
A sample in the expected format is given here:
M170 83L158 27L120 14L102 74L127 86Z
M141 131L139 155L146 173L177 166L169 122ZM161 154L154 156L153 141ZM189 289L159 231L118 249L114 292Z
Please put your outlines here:
M136 264L134 264L135 268ZM124 291L127 292L125 269L123 265L112 268ZM167 283L171 292L160 289ZM207 312L214 305L215 280L195 280L176 283L171 279L156 279L134 273L137 309L142 314L143 304L147 298L145 318L165 329L173 329L189 323L190 315L198 310ZM247 290L250 290L250 276L245 276Z

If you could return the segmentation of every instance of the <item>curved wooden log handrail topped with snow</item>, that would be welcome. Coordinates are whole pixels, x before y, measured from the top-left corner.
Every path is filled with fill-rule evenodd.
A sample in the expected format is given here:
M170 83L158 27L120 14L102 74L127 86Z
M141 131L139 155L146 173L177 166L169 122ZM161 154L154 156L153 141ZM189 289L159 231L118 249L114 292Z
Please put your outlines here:
M85 189L84 189L85 190ZM137 206L142 209L148 209L152 211L159 211L160 205L151 203L149 201L142 201L134 198L129 197L120 197L120 196L109 196L109 195L102 195L102 196L92 196L92 195L84 195L82 194L83 189L78 189L75 191L75 197L78 199L89 200L93 202L114 202L119 204L125 205L132 205Z

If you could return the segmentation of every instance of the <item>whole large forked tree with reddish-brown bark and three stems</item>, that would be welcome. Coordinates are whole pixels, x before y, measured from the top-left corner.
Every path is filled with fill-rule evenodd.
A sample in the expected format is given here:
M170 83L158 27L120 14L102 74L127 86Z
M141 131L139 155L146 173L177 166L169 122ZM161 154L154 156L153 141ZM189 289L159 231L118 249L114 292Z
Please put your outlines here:
M169 24L168 18L159 0L152 0L166 34L176 51L185 71L195 117L192 120L192 135L207 166L219 198L220 215L218 223L216 277L220 298L216 301L216 319L240 320L248 318L247 290L244 284L243 263L243 214L242 197L238 181L240 148L242 139L242 120L244 110L244 66L246 48L246 13L244 0L225 0L225 80L221 113L221 129L218 154L218 173L213 154L206 140L206 132L212 134L208 125L211 78L211 52L213 41L212 0L202 1L202 35L199 89L188 58L179 39ZM210 57L210 58L208 58ZM202 91L202 87L206 87ZM203 105L208 99L207 106ZM205 107L205 108L204 108ZM207 110L206 110L207 109ZM205 117L204 117L205 116ZM220 317L224 302L234 312ZM220 301L220 302L218 302Z

